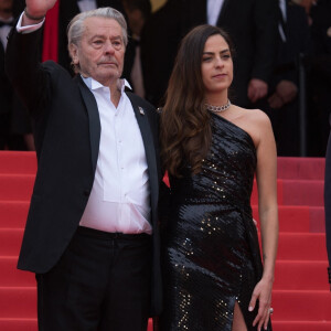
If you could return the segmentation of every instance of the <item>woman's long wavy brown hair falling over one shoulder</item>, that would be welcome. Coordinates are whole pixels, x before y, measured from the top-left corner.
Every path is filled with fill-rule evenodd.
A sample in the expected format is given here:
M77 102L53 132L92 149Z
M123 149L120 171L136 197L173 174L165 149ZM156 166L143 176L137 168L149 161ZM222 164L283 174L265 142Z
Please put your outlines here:
M161 114L161 158L168 172L181 177L184 167L191 173L201 171L211 140L211 115L205 109L201 64L206 40L221 34L229 46L227 34L217 26L200 25L181 42L170 76L166 105Z

